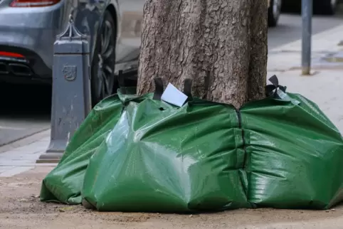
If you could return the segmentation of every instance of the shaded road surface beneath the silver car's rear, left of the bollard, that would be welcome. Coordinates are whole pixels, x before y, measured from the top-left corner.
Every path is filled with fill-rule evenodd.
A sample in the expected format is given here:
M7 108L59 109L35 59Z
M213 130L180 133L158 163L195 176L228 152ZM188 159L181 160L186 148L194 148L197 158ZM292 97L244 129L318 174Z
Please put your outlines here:
M0 147L50 128L50 87L1 83L0 97Z

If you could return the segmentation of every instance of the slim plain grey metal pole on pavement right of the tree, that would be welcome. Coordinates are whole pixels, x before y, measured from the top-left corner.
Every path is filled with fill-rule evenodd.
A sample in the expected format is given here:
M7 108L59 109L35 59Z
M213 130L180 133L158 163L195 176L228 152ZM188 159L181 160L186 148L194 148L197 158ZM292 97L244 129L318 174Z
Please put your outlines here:
M312 8L313 0L302 0L302 75L311 72Z

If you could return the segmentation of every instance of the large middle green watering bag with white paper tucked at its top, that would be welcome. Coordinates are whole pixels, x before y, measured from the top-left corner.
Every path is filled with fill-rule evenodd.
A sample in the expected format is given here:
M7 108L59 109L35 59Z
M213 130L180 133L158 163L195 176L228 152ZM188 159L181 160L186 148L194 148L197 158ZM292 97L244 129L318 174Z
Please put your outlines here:
M236 110L203 100L175 107L160 97L155 92L143 102L127 103L90 159L83 198L99 211L249 207Z

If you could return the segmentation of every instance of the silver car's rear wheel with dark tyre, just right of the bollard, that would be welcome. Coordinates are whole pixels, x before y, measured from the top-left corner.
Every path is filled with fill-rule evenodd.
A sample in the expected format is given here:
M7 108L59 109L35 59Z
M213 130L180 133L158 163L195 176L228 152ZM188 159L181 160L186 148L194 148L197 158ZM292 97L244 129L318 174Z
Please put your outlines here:
M116 25L110 11L105 11L91 65L90 89L92 106L112 95L117 88L115 76Z

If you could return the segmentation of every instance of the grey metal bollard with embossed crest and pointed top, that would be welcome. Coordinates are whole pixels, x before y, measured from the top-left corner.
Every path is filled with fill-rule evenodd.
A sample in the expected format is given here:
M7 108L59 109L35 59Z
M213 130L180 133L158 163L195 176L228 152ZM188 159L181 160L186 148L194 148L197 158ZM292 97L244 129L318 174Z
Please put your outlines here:
M70 16L54 43L50 145L36 162L57 163L90 110L90 45Z

